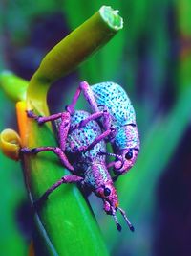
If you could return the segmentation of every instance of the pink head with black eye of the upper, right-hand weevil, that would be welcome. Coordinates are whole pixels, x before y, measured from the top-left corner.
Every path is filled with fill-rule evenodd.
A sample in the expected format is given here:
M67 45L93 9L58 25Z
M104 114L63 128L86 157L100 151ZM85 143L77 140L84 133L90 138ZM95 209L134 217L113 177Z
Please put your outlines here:
M120 155L122 162L117 161L115 164L115 174L125 174L134 166L138 157L138 149L125 149L120 152Z

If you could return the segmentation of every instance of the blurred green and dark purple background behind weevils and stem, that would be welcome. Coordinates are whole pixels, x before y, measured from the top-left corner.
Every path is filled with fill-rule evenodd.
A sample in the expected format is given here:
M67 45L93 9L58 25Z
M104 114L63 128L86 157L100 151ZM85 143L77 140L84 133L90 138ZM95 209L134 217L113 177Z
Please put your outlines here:
M111 255L191 255L191 3L189 0L0 1L0 71L30 80L61 38L111 5L124 29L49 94L51 112L70 102L79 81L116 81L137 112L141 151L117 181L121 207L136 232L118 233L100 200L91 204ZM84 101L79 103L84 108ZM0 90L0 130L16 129L14 105ZM0 254L27 255L30 206L19 163L0 154Z

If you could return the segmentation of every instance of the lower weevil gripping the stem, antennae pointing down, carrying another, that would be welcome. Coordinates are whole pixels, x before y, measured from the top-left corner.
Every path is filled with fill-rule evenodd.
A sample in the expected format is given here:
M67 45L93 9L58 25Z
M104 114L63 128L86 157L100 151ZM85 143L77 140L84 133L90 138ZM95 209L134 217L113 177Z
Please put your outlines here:
M66 111L49 117L41 117L35 115L32 111L28 111L28 117L34 118L38 124L55 121L59 145L56 148L23 148L21 152L36 154L42 151L53 151L57 154L62 164L72 172L72 175L64 175L54 183L37 200L35 206L41 205L53 190L61 184L78 183L84 191L94 192L97 197L102 198L103 209L106 214L113 216L118 231L121 230L121 225L117 221L117 210L127 222L130 230L134 231L134 227L128 220L125 211L118 207L117 191L107 170L105 155L99 153L100 151L106 152L105 142L100 138L102 131L97 122L92 120L92 115L86 111L77 110L74 111L73 115ZM112 132L112 128L110 132L107 132L109 135ZM98 142L97 138L100 138ZM83 151L82 149L86 148L86 145L91 145L91 147Z

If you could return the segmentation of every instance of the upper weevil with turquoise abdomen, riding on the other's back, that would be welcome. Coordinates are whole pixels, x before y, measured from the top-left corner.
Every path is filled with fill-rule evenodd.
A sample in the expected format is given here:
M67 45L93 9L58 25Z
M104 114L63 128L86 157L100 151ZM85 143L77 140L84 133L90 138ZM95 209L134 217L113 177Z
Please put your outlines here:
M100 126L104 130L108 130L108 128L115 130L108 139L112 144L114 153L102 151L99 153L116 157L110 166L114 167L117 176L126 173L135 164L140 148L136 113L127 93L120 85L112 81L101 82L92 86L88 82L82 81L74 94L71 105L67 106L71 114L74 113L74 107L81 91L95 112L93 116L104 110L108 112L107 119L100 119Z

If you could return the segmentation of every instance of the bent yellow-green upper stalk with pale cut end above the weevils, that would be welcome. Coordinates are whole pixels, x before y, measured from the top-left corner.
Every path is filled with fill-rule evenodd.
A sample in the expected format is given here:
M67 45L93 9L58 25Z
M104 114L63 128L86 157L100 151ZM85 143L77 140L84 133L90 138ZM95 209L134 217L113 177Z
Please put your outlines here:
M111 7L103 6L90 19L66 36L43 58L28 89L28 104L48 114L47 91L53 81L74 70L107 43L122 28L122 18Z

